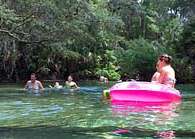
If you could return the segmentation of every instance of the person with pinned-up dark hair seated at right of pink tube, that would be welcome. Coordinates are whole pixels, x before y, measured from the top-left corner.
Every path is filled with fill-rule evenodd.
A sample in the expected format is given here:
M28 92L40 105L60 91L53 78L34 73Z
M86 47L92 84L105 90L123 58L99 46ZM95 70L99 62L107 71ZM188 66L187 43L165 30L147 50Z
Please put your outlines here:
M171 66L171 62L172 57L167 54L163 54L158 58L157 65L160 72L158 82L170 87L175 87L175 71Z

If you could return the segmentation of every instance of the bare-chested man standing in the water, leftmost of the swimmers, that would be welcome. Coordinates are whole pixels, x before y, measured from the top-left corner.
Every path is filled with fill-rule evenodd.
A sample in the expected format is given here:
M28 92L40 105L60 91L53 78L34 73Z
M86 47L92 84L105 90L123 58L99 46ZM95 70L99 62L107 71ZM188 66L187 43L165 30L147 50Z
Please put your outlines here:
M43 85L40 81L36 80L36 74L32 73L30 75L30 80L26 83L25 89L28 90L43 90Z

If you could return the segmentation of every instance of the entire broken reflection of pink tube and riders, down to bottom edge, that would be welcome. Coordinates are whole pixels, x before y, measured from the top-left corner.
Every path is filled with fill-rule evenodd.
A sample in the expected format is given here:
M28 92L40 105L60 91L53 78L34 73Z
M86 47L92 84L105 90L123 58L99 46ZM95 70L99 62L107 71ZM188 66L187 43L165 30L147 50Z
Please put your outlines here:
M167 129L157 129L157 130L146 130L150 129L150 127L166 127L167 125L174 124L174 120L179 115L176 113L178 105L177 103L144 103L144 102L111 102L111 109L113 116L123 117L126 119L127 123L133 123L135 121L135 125L137 127L147 126L144 129L136 129L129 126L129 128L121 128L114 130L112 133L114 135L120 136L137 136L137 132L139 134L143 132L143 136L153 136L155 138L162 139L173 139L175 138L175 131L167 130ZM130 118L128 118L130 117ZM133 117L133 118L132 118Z

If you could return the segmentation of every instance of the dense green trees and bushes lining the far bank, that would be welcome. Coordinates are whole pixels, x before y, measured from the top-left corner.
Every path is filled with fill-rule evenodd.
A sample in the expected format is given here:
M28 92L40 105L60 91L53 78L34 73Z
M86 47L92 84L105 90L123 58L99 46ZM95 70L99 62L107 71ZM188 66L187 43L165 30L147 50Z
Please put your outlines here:
M1 0L0 79L149 80L156 58L195 79L193 0Z

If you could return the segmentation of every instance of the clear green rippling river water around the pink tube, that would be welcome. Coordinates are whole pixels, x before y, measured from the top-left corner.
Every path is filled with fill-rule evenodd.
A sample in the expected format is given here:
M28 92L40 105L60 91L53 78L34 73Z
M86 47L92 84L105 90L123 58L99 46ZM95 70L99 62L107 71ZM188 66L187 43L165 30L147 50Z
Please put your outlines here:
M86 92L33 94L1 85L0 139L159 138L164 132L195 138L193 85L178 86L180 105L152 109L113 106L102 99L100 85L84 86Z

